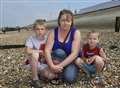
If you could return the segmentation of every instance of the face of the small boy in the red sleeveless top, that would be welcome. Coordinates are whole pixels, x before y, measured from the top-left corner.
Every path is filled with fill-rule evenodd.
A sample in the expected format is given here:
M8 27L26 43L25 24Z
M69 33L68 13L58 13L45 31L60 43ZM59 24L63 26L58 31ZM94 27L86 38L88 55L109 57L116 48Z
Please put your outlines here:
M98 33L90 33L88 35L88 44L90 48L96 47L97 43L99 42L98 36Z

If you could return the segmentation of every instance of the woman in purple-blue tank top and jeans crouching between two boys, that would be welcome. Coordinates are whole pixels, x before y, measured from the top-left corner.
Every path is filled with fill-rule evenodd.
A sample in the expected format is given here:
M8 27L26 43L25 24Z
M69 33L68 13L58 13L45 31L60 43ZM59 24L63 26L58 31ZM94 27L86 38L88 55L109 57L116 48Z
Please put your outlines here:
M66 83L73 83L78 73L74 60L80 49L80 32L73 25L73 13L60 11L58 27L49 33L45 48L50 69Z

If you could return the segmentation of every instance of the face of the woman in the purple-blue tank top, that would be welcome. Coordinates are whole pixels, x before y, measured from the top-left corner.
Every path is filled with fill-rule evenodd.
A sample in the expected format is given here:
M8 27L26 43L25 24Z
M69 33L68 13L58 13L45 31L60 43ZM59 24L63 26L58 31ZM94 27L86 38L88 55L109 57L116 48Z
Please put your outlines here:
M69 30L72 24L72 16L70 14L63 14L60 18L60 28L62 30Z

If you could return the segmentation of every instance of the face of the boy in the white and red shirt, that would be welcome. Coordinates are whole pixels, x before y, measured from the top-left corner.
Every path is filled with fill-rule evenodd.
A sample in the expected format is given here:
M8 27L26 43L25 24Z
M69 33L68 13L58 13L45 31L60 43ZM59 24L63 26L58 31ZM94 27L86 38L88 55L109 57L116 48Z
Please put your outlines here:
M36 25L34 31L37 36L44 37L47 30L44 25Z

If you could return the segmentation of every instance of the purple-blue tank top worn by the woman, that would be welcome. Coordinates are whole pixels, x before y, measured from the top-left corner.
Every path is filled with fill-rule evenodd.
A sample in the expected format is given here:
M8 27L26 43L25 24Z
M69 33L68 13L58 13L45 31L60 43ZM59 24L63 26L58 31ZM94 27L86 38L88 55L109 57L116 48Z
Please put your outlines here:
M58 40L58 27L54 29L54 44L53 44L53 51L56 49L63 49L67 56L71 53L72 51L72 42L74 39L74 34L75 34L76 28L71 27L70 33L69 33L69 40L65 43L62 43Z

